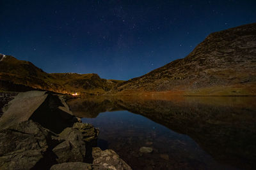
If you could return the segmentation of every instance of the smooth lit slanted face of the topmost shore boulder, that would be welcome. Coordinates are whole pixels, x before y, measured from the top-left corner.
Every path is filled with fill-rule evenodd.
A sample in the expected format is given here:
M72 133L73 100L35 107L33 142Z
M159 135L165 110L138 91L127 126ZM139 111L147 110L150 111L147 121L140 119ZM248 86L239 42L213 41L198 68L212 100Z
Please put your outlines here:
M28 120L47 96L48 94L42 91L20 92L8 103L8 110L0 118L0 129Z

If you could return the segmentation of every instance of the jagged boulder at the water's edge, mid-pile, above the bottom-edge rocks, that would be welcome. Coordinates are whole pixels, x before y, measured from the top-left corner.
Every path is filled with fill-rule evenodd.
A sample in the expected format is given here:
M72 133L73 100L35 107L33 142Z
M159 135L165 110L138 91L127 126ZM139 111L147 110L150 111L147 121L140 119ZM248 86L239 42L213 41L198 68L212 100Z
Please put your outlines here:
M75 123L60 133L63 143L53 148L57 161L92 163L92 146L97 145L99 130L91 124Z

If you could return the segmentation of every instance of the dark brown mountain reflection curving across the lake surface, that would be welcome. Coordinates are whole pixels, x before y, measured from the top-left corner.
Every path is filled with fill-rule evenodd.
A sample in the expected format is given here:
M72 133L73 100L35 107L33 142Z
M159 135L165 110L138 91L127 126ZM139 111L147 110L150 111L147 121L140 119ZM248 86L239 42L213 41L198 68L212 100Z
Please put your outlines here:
M187 134L223 164L256 167L255 97L89 98L69 101L79 117L128 110Z

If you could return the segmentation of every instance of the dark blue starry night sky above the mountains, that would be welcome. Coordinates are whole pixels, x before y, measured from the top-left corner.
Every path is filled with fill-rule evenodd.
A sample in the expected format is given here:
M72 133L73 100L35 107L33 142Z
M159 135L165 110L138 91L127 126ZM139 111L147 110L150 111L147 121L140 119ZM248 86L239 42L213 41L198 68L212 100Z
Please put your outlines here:
M0 0L0 53L47 73L128 80L211 32L256 22L256 1Z

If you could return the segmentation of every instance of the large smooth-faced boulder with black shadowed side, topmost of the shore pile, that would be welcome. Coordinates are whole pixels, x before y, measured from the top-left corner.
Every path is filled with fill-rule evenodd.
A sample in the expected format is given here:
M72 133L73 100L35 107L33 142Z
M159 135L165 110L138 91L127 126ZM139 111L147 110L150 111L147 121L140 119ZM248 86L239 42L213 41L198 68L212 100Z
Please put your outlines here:
M20 92L8 103L8 110L4 111L0 119L0 129L26 120L38 122L55 133L78 122L63 99L50 92L36 90Z

